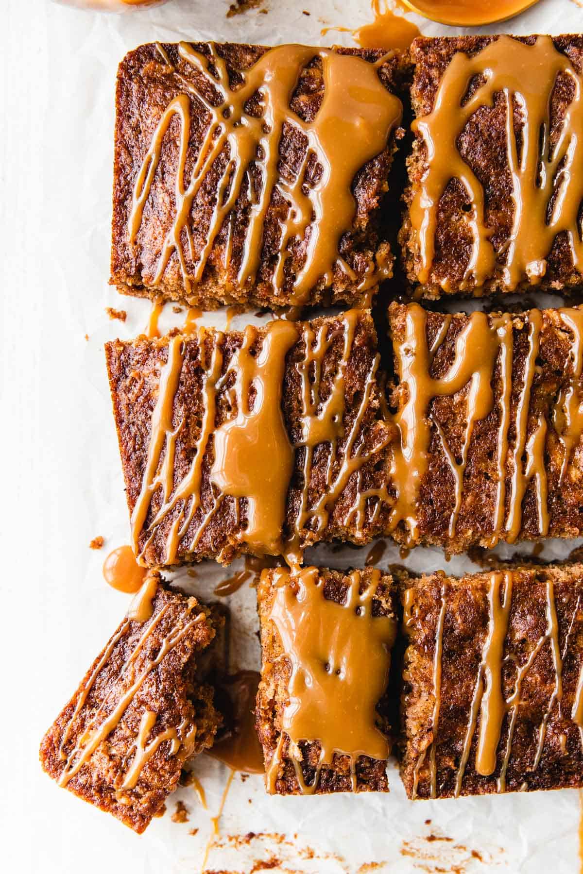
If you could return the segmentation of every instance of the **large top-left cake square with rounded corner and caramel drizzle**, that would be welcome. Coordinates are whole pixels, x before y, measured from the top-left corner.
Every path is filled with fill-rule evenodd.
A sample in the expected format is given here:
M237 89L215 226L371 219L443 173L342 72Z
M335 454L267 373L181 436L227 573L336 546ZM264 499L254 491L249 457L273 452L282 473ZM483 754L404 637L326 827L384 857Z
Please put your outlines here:
M140 45L117 76L111 282L205 309L362 304L392 275L381 212L395 52Z

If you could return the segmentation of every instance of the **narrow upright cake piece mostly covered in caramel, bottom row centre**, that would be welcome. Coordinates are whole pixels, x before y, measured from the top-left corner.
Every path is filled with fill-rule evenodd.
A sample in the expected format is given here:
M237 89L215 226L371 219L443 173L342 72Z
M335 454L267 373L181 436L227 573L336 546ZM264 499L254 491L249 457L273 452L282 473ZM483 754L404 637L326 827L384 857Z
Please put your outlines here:
M388 792L392 577L275 568L262 573L257 598L267 792Z

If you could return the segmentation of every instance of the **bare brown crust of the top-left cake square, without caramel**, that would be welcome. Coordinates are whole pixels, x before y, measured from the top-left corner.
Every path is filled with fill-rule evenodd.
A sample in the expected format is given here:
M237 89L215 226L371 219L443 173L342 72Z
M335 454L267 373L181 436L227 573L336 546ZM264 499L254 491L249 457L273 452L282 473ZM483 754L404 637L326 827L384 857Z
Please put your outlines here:
M192 47L210 56L210 47L206 43L192 44ZM233 235L231 248L228 249L226 226L219 232L211 256L205 267L205 272L198 284L192 283L191 290L185 288L183 275L174 253L165 269L162 280L156 287L153 278L160 258L163 239L170 229L175 215L175 178L178 161L179 121L175 117L170 122L170 134L164 137L159 168L151 187L148 202L145 205L142 227L135 246L129 245L128 218L132 209L133 192L138 171L142 166L149 143L156 130L156 125L177 94L184 94L184 82L196 82L202 87L204 94L209 94L212 100L210 86L205 77L196 68L180 57L176 44L165 43L162 50L170 60L168 66L156 44L141 45L133 52L128 52L121 61L117 76L116 90L116 125L115 125L115 169L114 169L114 215L113 242L111 253L111 282L123 294L142 297L162 295L164 299L182 301L202 306L204 309L215 309L222 303L245 304L256 307L281 308L294 302L291 292L284 288L283 293L275 294L272 286L274 264L279 253L281 235L280 219L282 213L281 196L274 195L267 210L264 226L260 269L253 288L240 288L237 283L237 271L242 258L246 235L246 214L249 210L249 194L244 190L234 209ZM226 60L227 71L231 85L234 87L242 81L241 72L248 70L260 57L267 52L267 46L237 45L225 43L216 45L219 56ZM317 50L315 49L315 52ZM366 61L374 62L382 57L383 52L338 48L342 54L355 55ZM379 68L381 82L389 90L393 90L399 80L401 61L395 55L387 59ZM304 68L295 94L291 101L291 110L302 121L312 121L316 116L323 98L323 76L319 59ZM216 98L215 98L216 99ZM248 111L260 114L260 104L253 98ZM188 156L184 169L184 177L191 175L194 160L200 143L205 136L208 125L207 114L198 98L191 94L191 135ZM292 113L292 119L293 119ZM298 128L287 122L284 125L280 144L282 166L296 174L302 167L306 151L306 138ZM350 280L340 267L335 268L333 281L328 288L311 289L306 303L362 303L364 291L357 286L364 278L364 273L371 261L382 260L390 264L392 255L390 246L385 239L381 227L380 205L387 191L387 177L395 150L394 137L391 137L387 147L370 162L366 163L353 180L352 192L357 205L354 226L346 228L340 243L340 254L354 270L354 278ZM205 233L209 227L214 199L219 185L219 170L225 169L226 154L219 156L216 162L217 170L213 169L207 175L205 184L194 200L191 210L192 242L195 253L205 245ZM321 173L316 162L308 168L308 178L314 180ZM253 179L253 184L260 186L260 177ZM278 200L278 197L280 198ZM226 223L228 225L229 223ZM305 246L292 246L288 267L289 275L296 274L305 260ZM231 266L225 267L227 252L230 252ZM196 261L196 259L194 259ZM191 262L193 267L194 261ZM289 285L289 283L288 283ZM369 289L370 290L370 289ZM374 289L372 289L374 291Z

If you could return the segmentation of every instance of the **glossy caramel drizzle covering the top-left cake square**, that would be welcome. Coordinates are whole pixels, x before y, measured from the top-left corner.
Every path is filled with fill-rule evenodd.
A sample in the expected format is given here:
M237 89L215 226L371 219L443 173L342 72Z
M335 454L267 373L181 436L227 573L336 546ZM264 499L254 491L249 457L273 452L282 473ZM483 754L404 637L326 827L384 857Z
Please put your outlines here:
M302 303L309 292L323 281L330 285L336 268L350 279L354 271L344 261L338 246L344 232L350 230L356 216L356 201L351 184L357 171L382 152L387 139L401 118L400 101L390 94L378 78L378 65L363 59L341 55L329 49L302 45L281 45L269 50L242 74L244 81L233 88L225 61L216 46L210 44L211 57L180 43L180 58L194 67L218 94L218 105L208 100L198 85L170 68L180 80L186 94L178 94L163 111L142 167L135 180L132 209L128 218L128 242L134 248L146 202L160 162L163 140L170 122L180 124L178 165L175 187L176 215L164 239L162 252L151 283L158 285L170 257L176 253L184 286L191 292L202 280L218 234L229 221L229 239L233 231L233 210L244 191L251 202L239 286L253 285L260 267L263 231L267 210L273 198L288 205L280 218L280 254L274 266L272 285L281 294L285 278L288 246L300 239L306 246L303 267L295 275L292 301ZM323 66L324 94L314 121L305 122L289 108L302 69L314 58ZM212 68L216 71L212 73ZM206 90L206 89L205 89ZM246 112L246 103L260 94L263 114L260 118ZM185 166L191 135L191 98L202 102L210 117L203 142L198 150L191 177L185 179ZM283 127L291 123L308 140L302 168L293 180L281 170L280 142ZM217 198L205 245L194 252L191 237L191 211L198 192L219 156L228 154L226 168L219 180ZM310 156L322 167L318 181L308 187L306 169ZM260 189L255 191L253 168L260 174ZM183 237L188 241L184 251ZM226 246L226 267L230 267L231 245ZM370 288L390 274L390 266L370 264L358 288Z

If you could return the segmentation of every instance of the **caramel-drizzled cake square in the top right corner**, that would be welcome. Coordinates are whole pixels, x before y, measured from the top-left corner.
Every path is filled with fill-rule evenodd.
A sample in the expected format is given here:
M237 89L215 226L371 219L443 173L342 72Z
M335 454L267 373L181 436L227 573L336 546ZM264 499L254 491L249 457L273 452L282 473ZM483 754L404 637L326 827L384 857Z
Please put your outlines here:
M419 38L411 53L414 294L580 290L583 37Z

